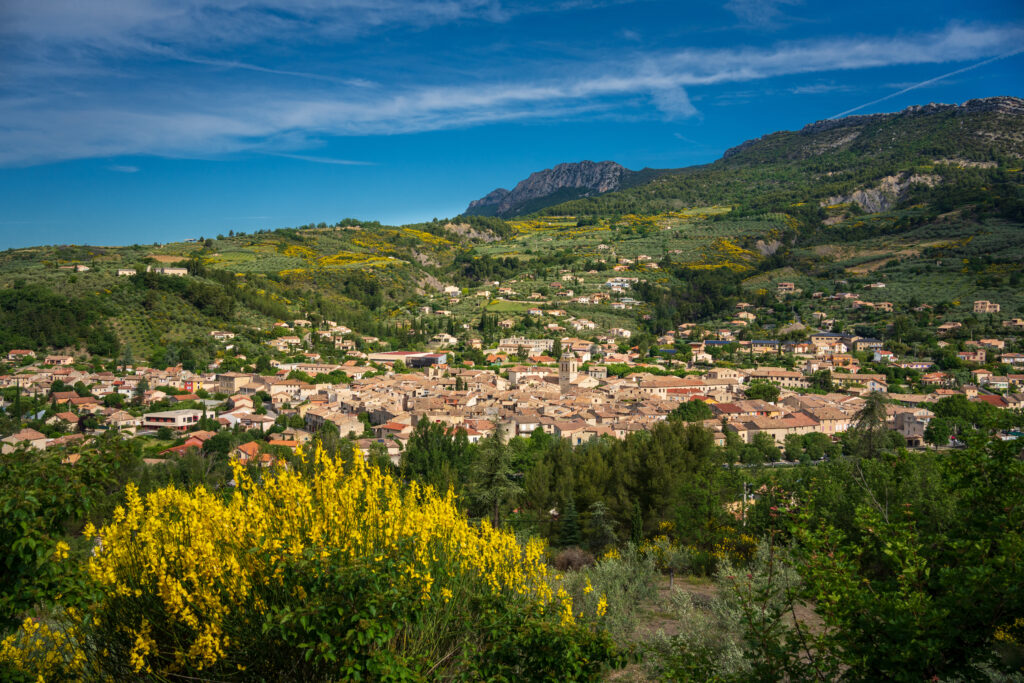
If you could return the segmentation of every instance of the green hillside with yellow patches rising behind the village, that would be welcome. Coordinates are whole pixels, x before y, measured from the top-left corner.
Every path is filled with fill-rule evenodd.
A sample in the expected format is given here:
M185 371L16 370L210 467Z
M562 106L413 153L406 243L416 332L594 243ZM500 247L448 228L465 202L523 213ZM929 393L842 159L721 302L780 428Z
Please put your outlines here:
M317 316L417 346L476 329L485 314L530 331L537 305L657 335L727 321L740 300L770 304L782 281L830 293L837 282L882 280L897 305L942 304L956 316L963 302L990 299L1020 315L1022 122L1014 98L820 122L508 222L345 219L166 245L8 250L0 350L201 358L212 329L259 341L276 321ZM188 275L145 272L167 266ZM126 268L137 274L118 274ZM639 281L636 305L582 305L556 287L569 278L565 290L606 291L614 274ZM444 286L462 296L450 300Z

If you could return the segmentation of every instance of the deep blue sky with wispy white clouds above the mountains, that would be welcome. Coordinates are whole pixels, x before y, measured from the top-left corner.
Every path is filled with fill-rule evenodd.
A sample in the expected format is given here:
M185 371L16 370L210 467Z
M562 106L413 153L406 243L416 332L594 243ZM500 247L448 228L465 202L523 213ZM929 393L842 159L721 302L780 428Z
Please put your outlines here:
M564 161L1022 96L1022 48L1017 0L3 0L0 248L452 216Z

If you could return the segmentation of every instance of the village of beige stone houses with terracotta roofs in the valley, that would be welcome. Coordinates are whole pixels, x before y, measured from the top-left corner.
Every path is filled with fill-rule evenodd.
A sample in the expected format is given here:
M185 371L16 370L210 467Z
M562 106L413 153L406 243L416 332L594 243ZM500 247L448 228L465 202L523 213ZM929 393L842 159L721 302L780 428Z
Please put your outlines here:
M780 284L780 295L790 294L788 287ZM470 329L462 339L437 334L430 349L411 351L388 350L381 340L331 321L307 319L278 322L268 331L263 344L272 354L270 372L221 368L223 358L234 367L240 360L232 357L236 333L221 330L209 334L223 358L205 372L143 365L95 372L73 355L37 357L14 349L0 388L15 388L18 399L31 396L43 408L0 440L4 453L58 450L74 464L90 439L116 430L161 444L145 459L159 464L189 451L203 453L209 439L227 432L233 435L231 458L269 466L328 430L398 464L424 420L464 430L470 442L495 430L508 439L540 429L578 445L649 430L681 405L700 401L708 409L700 421L716 444L730 436L752 443L766 434L781 447L794 434L837 440L854 424L864 396L881 392L888 399L888 426L907 446L926 447L929 405L944 397L1024 407L1024 353L1006 351L1016 337L959 343L956 357L970 369L968 376L963 369L942 371L932 358L900 358L872 337L829 332L823 315L822 327L800 340L737 339L741 335L734 332L755 319L753 308L738 304L731 329L680 325L658 337L664 353L646 356L629 346L627 329L590 339L512 335L490 348ZM997 313L998 304L978 301L974 309ZM541 312L563 311L526 314ZM511 323L503 327L517 327ZM942 324L937 333L959 327ZM1021 321L1004 321L1002 328L1012 335ZM945 346L939 342L940 349ZM335 361L325 361L317 347L333 349ZM896 371L901 379L879 369Z

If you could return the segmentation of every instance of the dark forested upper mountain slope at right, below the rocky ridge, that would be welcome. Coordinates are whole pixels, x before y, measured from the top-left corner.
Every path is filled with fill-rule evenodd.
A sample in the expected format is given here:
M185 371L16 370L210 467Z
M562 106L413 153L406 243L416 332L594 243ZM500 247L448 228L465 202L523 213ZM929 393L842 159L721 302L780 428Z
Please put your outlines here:
M771 133L727 151L712 164L672 171L600 197L549 206L539 213L656 214L730 204L740 214L758 214L794 205L816 207L829 199L877 188L893 176L898 178L891 182L907 184L913 174L933 176L916 183L925 187L963 189L969 185L978 195L992 182L1019 187L1020 173L1015 169L1022 159L1024 100L988 97L959 105L927 104L894 114L821 121L799 131ZM927 193L918 187L900 194L886 206L919 200ZM1019 196L1017 187L1010 187L997 198L982 194L974 199L1006 205L1017 202Z

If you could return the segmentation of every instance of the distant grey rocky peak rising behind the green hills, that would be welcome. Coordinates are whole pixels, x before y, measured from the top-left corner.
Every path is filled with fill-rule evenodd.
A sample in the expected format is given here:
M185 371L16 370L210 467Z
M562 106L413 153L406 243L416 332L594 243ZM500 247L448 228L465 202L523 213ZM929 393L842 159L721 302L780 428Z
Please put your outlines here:
M559 164L531 173L511 190L499 187L469 203L466 215L516 216L539 211L552 204L601 195L646 182L664 171L631 171L610 161Z

